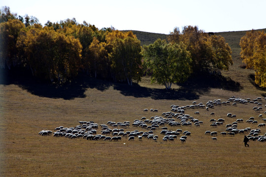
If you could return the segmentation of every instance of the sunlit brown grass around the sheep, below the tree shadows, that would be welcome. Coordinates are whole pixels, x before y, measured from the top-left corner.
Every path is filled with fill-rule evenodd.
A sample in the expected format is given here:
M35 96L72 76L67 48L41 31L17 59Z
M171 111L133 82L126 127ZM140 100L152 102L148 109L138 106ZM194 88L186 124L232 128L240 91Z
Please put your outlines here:
M125 96L113 86L104 91L87 89L85 98L70 100L36 96L17 85L1 85L0 89L1 175L5 177L265 175L265 143L250 142L250 148L245 148L243 135L223 137L219 133L225 130L225 125L218 128L209 126L210 112L215 113L216 119L225 118L226 123L235 121L226 117L229 112L244 120L250 116L257 117L258 113L252 111L254 105L251 104L215 107L209 112L199 109L200 115L194 115L195 110L187 110L186 114L199 118L204 124L201 127L181 127L183 131L192 132L184 144L179 140L163 142L160 130L155 131L159 135L158 142L147 139L129 142L127 138L121 142L70 140L42 137L37 133L61 125L75 126L78 120L94 120L99 124L108 120L133 122L143 116L150 118L170 111L171 104L182 106L192 104L192 101ZM257 96L211 89L208 95L200 95L197 101L225 100L233 94L240 94L243 98ZM266 104L265 100L263 104ZM159 113L144 113L144 108L156 108ZM257 125L239 123L238 128L245 127L257 128ZM169 127L171 130L177 128ZM127 130L134 129L142 130L132 126ZM266 132L265 127L261 129ZM204 135L206 130L218 132L217 142Z

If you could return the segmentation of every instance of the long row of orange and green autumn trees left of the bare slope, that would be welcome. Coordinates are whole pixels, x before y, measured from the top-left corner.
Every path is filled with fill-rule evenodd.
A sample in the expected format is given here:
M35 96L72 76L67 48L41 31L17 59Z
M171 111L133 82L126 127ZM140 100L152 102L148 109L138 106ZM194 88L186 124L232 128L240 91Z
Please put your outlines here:
M74 18L42 26L35 17L12 14L9 7L0 10L0 46L1 68L27 68L57 85L81 72L128 85L147 74L170 89L191 74L221 74L233 64L225 39L198 27L175 28L167 41L141 47L132 31L98 29Z

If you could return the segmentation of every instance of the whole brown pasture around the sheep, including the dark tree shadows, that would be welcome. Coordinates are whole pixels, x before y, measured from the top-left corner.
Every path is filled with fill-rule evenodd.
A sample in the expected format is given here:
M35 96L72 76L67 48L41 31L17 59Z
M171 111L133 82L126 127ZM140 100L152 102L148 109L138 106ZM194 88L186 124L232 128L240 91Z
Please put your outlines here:
M237 32L224 33L231 47L239 43ZM230 37L231 36L231 37ZM232 40L230 41L230 38ZM235 49L234 49L235 48ZM237 45L232 47L238 50ZM225 124L235 118L244 122L238 128L257 124L246 123L255 117L254 104L237 106L216 106L205 109L187 110L186 114L202 120L200 127L181 128L192 133L186 143L178 139L163 142L160 130L158 142L120 142L71 140L52 136L39 136L42 130L53 130L57 126L71 127L79 120L93 120L99 124L111 121L130 121L141 117L161 116L170 111L170 105L191 105L193 101L206 103L208 100L227 100L232 95L241 98L265 97L266 90L254 85L254 71L242 69L237 53L233 54L234 64L221 78L190 79L183 85L174 85L166 91L163 86L150 84L149 78L129 87L80 76L75 83L62 88L42 84L30 75L19 75L1 71L0 78L0 176L3 177L265 177L266 143L250 142L245 148L243 134L234 137L221 136L225 125L210 127L210 118L224 118ZM263 106L266 100L262 101ZM143 112L144 108L158 109L158 113ZM194 115L199 111L199 115ZM210 112L215 116L211 117ZM266 115L263 116L266 118ZM141 128L130 126L127 131ZM206 130L217 131L217 141L204 135ZM261 128L266 133L266 127ZM98 130L100 133L100 129ZM247 135L247 133L245 134Z

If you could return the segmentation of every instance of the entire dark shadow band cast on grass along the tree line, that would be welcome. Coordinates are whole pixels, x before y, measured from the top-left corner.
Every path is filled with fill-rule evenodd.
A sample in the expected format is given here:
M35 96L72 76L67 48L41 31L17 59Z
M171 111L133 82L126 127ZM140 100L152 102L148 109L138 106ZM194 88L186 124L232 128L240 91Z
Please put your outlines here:
M32 76L29 71L1 70L0 85L14 84L28 92L47 98L63 98L66 100L74 98L85 98L87 89L98 89L104 91L113 87L125 96L136 98L151 97L152 99L170 100L196 100L200 94L206 94L212 88L219 88L231 91L243 89L238 82L229 77L198 75L190 77L185 83L178 84L179 89L152 89L141 87L138 84L128 86L126 83L113 83L94 79L87 75L80 74L74 82L64 86L55 86L48 82L39 80ZM21 74L23 73L23 74Z

